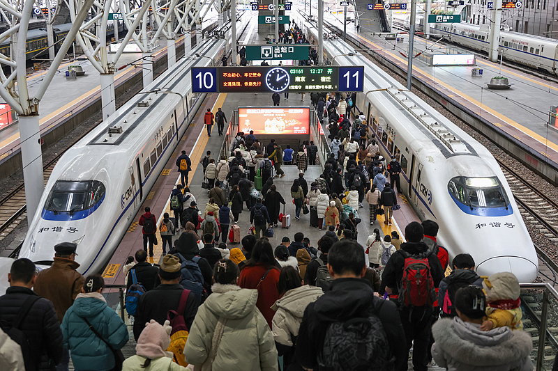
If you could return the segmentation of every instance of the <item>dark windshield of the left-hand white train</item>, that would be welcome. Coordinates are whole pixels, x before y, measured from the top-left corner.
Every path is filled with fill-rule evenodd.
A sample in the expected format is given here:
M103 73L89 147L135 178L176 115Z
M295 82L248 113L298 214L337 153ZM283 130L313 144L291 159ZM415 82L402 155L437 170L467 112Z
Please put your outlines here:
M58 180L45 205L52 212L80 212L90 209L105 196L105 185L97 180Z

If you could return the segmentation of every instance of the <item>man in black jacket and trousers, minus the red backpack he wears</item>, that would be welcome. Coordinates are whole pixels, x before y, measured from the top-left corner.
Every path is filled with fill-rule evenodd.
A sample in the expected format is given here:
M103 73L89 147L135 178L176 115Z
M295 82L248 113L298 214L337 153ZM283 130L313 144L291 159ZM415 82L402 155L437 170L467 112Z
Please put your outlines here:
M401 248L395 251L389 258L384 273L382 274L382 287L385 291L395 298L398 296L398 290L402 284L403 269L405 267L405 258L409 255L418 255L428 251L428 245L421 242L424 237L424 229L421 223L413 221L405 227L405 239L407 242L401 244ZM430 265L430 274L434 281L434 287L438 287L444 271L438 257L434 253L428 254L428 263ZM435 299L435 298L434 298ZM396 301L396 299L395 299ZM407 339L407 347L400 348L407 354L414 341L413 348L413 366L414 370L427 370L428 343L430 340L430 325L432 322L432 306L407 308L400 305L399 315L403 329L405 329L405 338ZM407 362L396 371L406 371Z

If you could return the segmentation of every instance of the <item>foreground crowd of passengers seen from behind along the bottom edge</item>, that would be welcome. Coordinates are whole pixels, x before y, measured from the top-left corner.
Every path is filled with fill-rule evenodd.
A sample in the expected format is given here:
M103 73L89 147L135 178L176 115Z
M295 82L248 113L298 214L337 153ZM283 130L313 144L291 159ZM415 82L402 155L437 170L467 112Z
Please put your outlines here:
M0 370L68 370L70 357L78 371L403 371L411 360L416 371L532 370L517 278L479 277L469 254L444 276L437 226L423 224L395 245L328 230L317 247L297 232L275 248L254 235L216 248L205 235L200 249L185 230L160 265L137 251L124 269L137 341L126 359L128 326L107 306L103 278L82 276L76 245L57 244L50 268L13 262ZM366 262L376 247L381 269Z

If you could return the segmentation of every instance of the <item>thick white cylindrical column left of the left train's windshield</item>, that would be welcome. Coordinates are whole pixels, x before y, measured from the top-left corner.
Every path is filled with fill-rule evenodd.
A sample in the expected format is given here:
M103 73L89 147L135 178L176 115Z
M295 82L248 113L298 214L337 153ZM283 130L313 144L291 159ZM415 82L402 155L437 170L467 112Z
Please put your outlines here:
M43 195L43 189L45 189L39 116L20 116L19 120L27 220L31 221L38 212L40 196Z

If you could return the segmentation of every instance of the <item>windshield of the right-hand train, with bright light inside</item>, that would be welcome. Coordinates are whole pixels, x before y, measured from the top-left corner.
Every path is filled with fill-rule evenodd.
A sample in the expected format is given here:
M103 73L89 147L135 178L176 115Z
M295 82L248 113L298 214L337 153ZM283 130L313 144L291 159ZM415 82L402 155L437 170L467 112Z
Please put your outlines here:
M507 207L506 191L497 177L454 177L448 183L449 193L469 207Z

